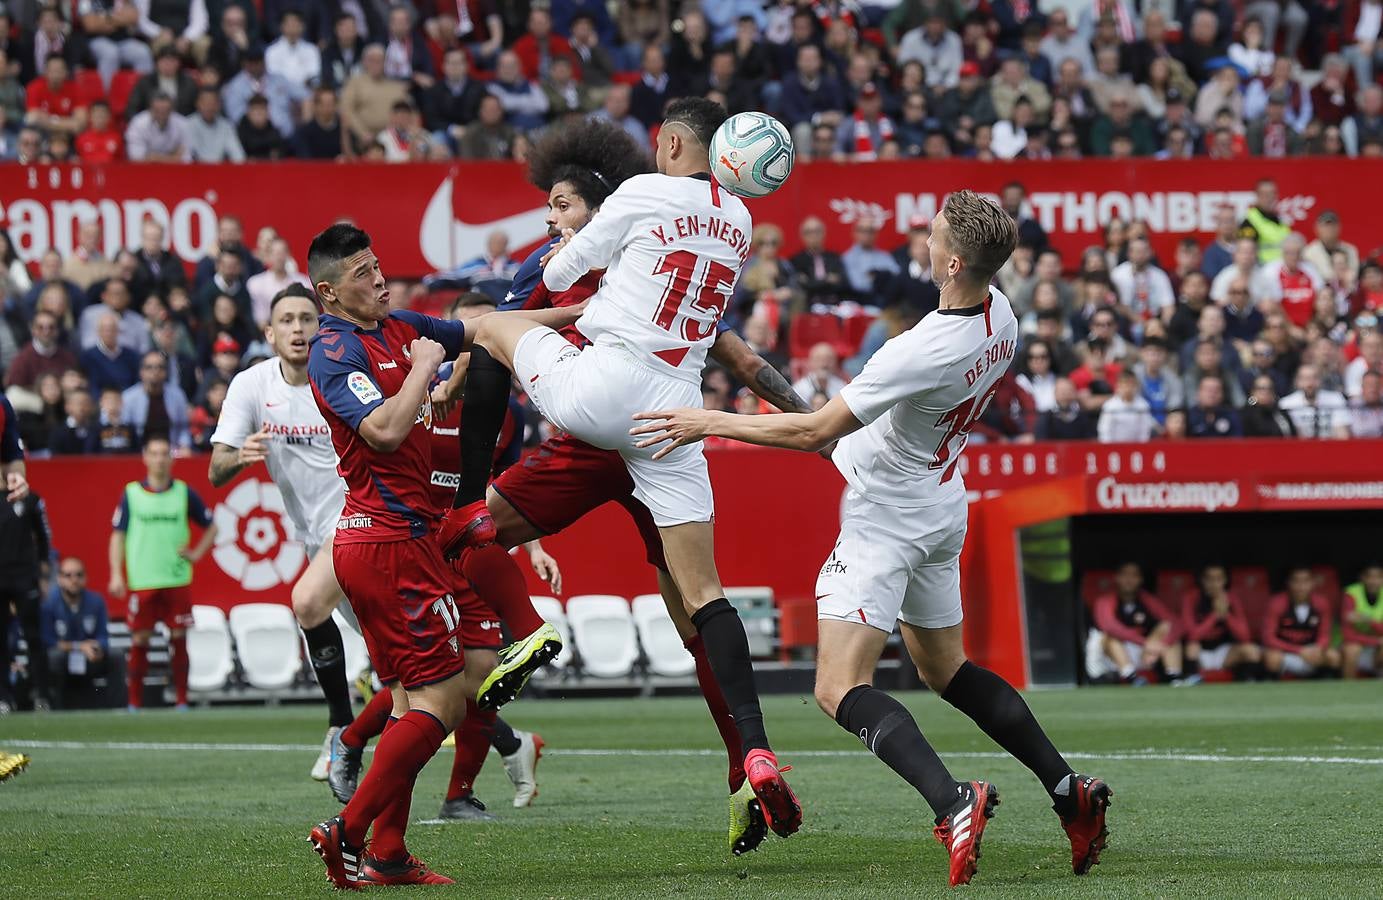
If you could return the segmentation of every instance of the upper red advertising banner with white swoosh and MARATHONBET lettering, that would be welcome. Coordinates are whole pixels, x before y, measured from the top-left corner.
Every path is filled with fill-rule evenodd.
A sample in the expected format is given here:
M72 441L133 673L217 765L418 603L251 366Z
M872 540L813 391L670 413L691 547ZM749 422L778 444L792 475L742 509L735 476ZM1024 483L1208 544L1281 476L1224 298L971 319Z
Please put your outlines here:
M1346 239L1368 252L1383 245L1383 220L1372 192L1358 188L1376 181L1377 171L1366 159L804 163L750 209L755 221L783 227L787 253L797 250L797 223L806 216L827 223L828 243L838 249L851 245L859 217L877 218L882 245L892 247L909 220L934 216L949 191L997 194L1019 180L1033 217L1073 267L1116 216L1147 223L1170 260L1177 239L1209 239L1220 205L1242 212L1254 181L1272 177L1279 213L1299 231L1310 235L1315 214L1335 209ZM373 235L386 274L419 276L474 259L496 228L516 252L542 241L544 199L514 163L0 167L0 227L29 263L50 246L71 252L77 221L87 218L101 220L112 252L138 246L140 223L152 216L169 227L173 250L192 263L214 243L221 216L239 216L250 241L261 225L274 225L299 257L317 231L346 217Z

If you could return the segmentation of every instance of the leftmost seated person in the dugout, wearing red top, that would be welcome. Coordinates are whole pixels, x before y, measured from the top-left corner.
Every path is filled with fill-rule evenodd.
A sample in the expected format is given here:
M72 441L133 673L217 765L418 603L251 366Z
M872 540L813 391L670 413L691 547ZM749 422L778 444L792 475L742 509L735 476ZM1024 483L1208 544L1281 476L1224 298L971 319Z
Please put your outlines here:
M1115 593L1095 600L1099 653L1090 669L1113 668L1129 684L1147 684L1140 669L1160 665L1163 675L1181 683L1181 643L1177 618L1152 593L1144 590L1142 570L1124 563L1115 571ZM1091 672L1095 675L1095 672Z

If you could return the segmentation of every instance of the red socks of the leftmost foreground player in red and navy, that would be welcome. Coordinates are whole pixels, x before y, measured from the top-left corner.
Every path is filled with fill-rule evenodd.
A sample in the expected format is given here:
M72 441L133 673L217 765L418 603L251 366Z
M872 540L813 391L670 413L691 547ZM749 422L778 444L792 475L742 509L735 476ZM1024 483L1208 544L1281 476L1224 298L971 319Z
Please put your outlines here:
M355 789L355 796L342 812L346 820L346 841L353 846L365 843L369 824L376 823L373 853L379 859L396 859L402 850L402 832L408 824L407 805L412 800L414 781L427 760L437 753L447 730L431 713L409 709L394 722L375 747L375 760ZM389 809L390 806L394 809ZM400 816L398 806L402 806ZM387 810L387 813L386 813ZM380 834L380 829L384 834ZM380 842L386 842L380 846Z

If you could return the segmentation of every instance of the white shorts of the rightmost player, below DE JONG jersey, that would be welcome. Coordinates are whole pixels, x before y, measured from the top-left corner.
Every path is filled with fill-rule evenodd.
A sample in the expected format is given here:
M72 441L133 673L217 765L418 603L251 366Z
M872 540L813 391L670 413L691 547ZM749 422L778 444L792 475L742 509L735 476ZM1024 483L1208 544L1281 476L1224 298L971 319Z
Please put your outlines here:
M817 618L881 632L899 619L918 628L958 625L968 516L964 499L903 509L846 491L841 536L816 579Z

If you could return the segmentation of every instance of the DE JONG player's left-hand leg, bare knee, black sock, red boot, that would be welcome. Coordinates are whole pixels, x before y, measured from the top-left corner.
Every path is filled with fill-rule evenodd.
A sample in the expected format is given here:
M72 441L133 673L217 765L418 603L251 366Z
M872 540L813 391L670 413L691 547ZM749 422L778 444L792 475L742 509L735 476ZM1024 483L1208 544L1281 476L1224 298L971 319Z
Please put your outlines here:
M903 704L871 686L888 632L823 618L819 622L816 702L922 795L936 816L936 839L950 854L950 883L975 875L981 838L999 806L985 781L957 781Z

